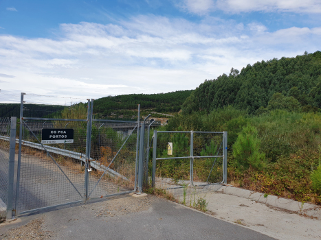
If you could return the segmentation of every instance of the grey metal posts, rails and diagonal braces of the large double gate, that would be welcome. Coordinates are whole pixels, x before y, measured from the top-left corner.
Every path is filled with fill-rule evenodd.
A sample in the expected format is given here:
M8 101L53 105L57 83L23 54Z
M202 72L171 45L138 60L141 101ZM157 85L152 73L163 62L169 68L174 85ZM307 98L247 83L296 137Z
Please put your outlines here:
M14 200L14 208L13 208L12 205L13 205L13 195L14 195L13 185L14 185L14 156L15 156L15 145L16 145L16 131L15 131L16 127L13 128L13 126L12 126L12 130L14 130L14 131L12 131L11 134L10 134L10 171L9 171L8 174L9 174L9 180L10 179L12 180L12 186L9 184L9 187L12 188L12 191L10 191L9 194L8 194L8 200L9 200L9 196L10 196L10 201L8 201L8 203L10 203L10 204L8 204L8 206L7 206L7 219L10 219L11 217L16 217L17 214L33 213L33 212L36 212L36 211L42 211L42 210L45 210L45 209L48 209L48 208L54 208L54 207L57 207L57 206L65 206L65 205L69 205L69 204L86 203L89 200L95 200L96 198L101 198L101 197L89 197L93 190L91 191L91 193L88 194L88 190L89 190L89 171L88 171L88 169L90 167L90 160L91 160L90 159L90 149L91 149L91 130L92 130L93 121L107 121L107 122L110 121L110 122L123 122L123 123L124 122L126 122L126 123L135 123L136 121L117 121L117 120L107 120L107 119L93 119L93 99L87 99L87 101L88 101L87 119L52 119L52 118L23 117L23 103L25 102L23 100L23 98L24 98L23 96L24 95L26 95L26 94L25 93L21 93L20 126L19 126L19 153L18 153L18 164L17 164L17 171L16 171L16 193L15 193L15 200ZM148 117L146 117L146 119ZM16 119L16 117L14 117L14 119ZM145 123L146 119L144 119L144 122L142 124L143 126L144 126L144 123ZM84 196L83 196L83 200L77 200L77 201L74 201L74 202L67 202L67 203L64 203L64 204L56 204L56 205L53 205L53 206L45 206L45 207L42 207L42 208L34 208L34 209L31 209L31 210L22 211L20 213L17 213L16 208L17 208L17 204L19 202L19 189L20 189L21 148L22 148L23 125L27 126L27 124L25 123L26 121L23 121L23 120L26 120L26 121L27 120L87 121L86 154L85 154L85 182L84 182L84 191L85 191L85 193L84 193ZM14 121L14 124L16 125L16 120ZM139 163L139 159L141 158L141 152L138 149L139 149L139 146L140 146L140 142L142 141L144 143L144 134L140 133L140 125L141 125L141 123L140 123L140 104L138 104L137 125L135 126L135 128L137 128L137 141L136 141L135 186L134 186L134 189L131 190L131 191L125 191L125 192L122 192L122 193L113 193L113 194L105 195L103 197L109 197L109 196L114 196L114 195L122 195L122 194L126 194L126 193L133 193L133 192L137 191L137 185L138 185L138 189L142 189L142 184L140 184L139 181L138 181L138 184L137 184L137 179L138 180L142 179L142 176L140 177L140 173L142 175L142 165ZM131 132L131 134L134 132L135 128L133 128L133 131ZM141 127L141 130L144 130L144 128ZM32 132L32 134L34 134L34 133ZM131 134L129 136L131 136ZM129 139L129 137L126 139L126 141L128 139ZM124 141L122 147L124 146L126 141ZM39 143L41 143L41 142L39 141ZM43 145L43 144L41 143L41 145ZM120 152L122 147L120 147L120 149L118 149L118 153ZM49 152L47 151L47 149L44 146L43 146L43 150L45 152L47 152L47 155L49 155L52 158L52 156L49 154ZM144 151L142 151L142 153L143 152ZM118 153L115 156L117 156ZM13 159L13 162L12 162L12 159ZM54 160L54 158L52 158L52 159ZM113 158L113 160L114 159L115 159L115 157ZM55 160L54 160L54 162L55 162ZM111 163L109 165L111 165ZM58 168L60 169L59 166L58 166ZM109 166L107 167L107 169L109 169ZM107 169L106 169L106 171L107 171ZM62 169L60 169L60 171L62 171ZM106 173L106 171L104 171L104 173ZM67 178L67 179L69 180L69 178ZM71 180L69 180L69 182L71 183L72 186L74 186L74 184L72 184ZM98 182L99 182L99 180L98 180ZM96 183L96 186L97 186L98 182ZM76 189L76 187L74 187L74 188ZM76 191L78 191L78 190L76 189ZM82 195L80 194L80 196L82 196Z

